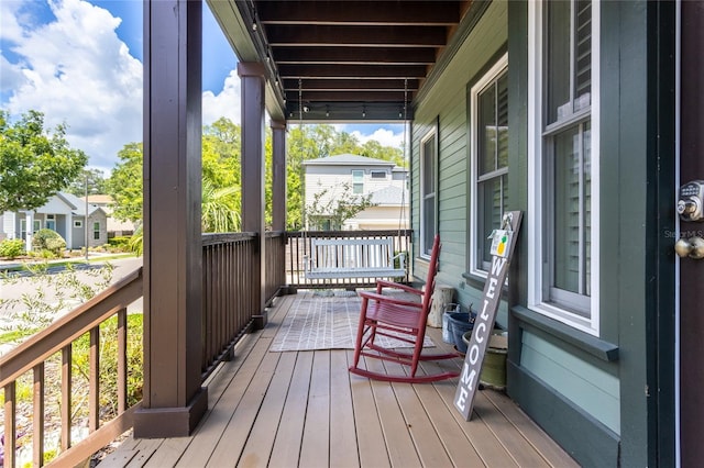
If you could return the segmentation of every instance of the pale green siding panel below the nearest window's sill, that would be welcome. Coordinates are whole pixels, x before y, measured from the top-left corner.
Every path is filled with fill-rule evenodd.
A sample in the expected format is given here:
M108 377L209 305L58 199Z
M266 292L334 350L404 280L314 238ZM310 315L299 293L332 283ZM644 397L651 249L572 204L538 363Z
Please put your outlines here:
M606 427L620 433L620 386L616 377L526 331L520 365Z

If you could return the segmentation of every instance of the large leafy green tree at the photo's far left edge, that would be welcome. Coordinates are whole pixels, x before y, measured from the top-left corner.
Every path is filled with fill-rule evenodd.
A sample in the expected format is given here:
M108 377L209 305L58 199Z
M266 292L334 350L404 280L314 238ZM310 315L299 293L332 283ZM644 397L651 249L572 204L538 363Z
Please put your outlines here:
M0 212L33 210L68 187L88 157L72 149L66 126L44 131L44 114L29 111L14 124L0 110Z

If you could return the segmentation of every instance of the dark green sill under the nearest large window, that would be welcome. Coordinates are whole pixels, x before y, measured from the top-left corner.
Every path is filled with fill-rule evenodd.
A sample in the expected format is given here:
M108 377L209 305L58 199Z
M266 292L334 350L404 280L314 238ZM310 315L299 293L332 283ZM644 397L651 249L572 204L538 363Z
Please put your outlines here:
M607 363L618 360L618 346L581 332L557 320L544 316L520 305L512 308L512 313L520 322L527 323L572 346Z

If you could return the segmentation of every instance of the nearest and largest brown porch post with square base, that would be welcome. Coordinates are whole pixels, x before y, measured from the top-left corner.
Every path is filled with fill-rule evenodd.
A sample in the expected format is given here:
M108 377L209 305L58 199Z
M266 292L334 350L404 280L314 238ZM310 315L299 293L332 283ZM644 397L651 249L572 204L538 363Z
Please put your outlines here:
M187 436L201 387L200 1L144 3L144 397L135 437Z

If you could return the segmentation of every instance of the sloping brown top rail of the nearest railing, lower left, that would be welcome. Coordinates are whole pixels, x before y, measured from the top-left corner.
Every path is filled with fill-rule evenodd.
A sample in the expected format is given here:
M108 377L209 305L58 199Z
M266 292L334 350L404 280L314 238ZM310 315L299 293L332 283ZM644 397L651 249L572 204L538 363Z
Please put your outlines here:
M142 296L142 267L0 357L0 388Z

